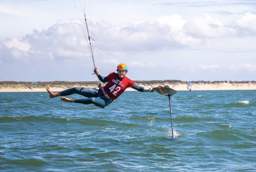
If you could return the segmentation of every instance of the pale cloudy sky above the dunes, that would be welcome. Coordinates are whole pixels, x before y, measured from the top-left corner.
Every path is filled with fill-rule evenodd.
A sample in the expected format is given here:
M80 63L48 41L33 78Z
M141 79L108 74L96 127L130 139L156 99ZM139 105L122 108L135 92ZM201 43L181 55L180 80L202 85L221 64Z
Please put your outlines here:
M255 80L254 1L81 3L103 76L125 63L132 80ZM86 31L77 0L0 2L0 81L97 80L75 4Z

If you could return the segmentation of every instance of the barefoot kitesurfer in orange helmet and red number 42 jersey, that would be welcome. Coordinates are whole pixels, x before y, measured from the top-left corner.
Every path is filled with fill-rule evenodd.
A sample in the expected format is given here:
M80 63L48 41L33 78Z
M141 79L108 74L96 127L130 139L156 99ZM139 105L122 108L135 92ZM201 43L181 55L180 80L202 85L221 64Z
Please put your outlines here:
M109 105L113 100L117 99L126 88L132 87L133 89L140 92L154 92L153 89L144 88L136 85L132 80L127 78L125 75L128 72L128 67L126 64L119 64L116 69L117 73L112 72L108 76L103 77L99 74L97 68L94 69L94 72L98 76L99 80L102 82L107 82L107 84L99 90L96 88L84 88L84 87L74 87L67 90L53 93L49 86L46 87L47 92L49 93L50 98L58 96L67 96L71 94L80 94L83 95L84 99L69 99L66 97L61 97L61 100L64 102L75 102L81 104L94 104L97 107L104 108Z

